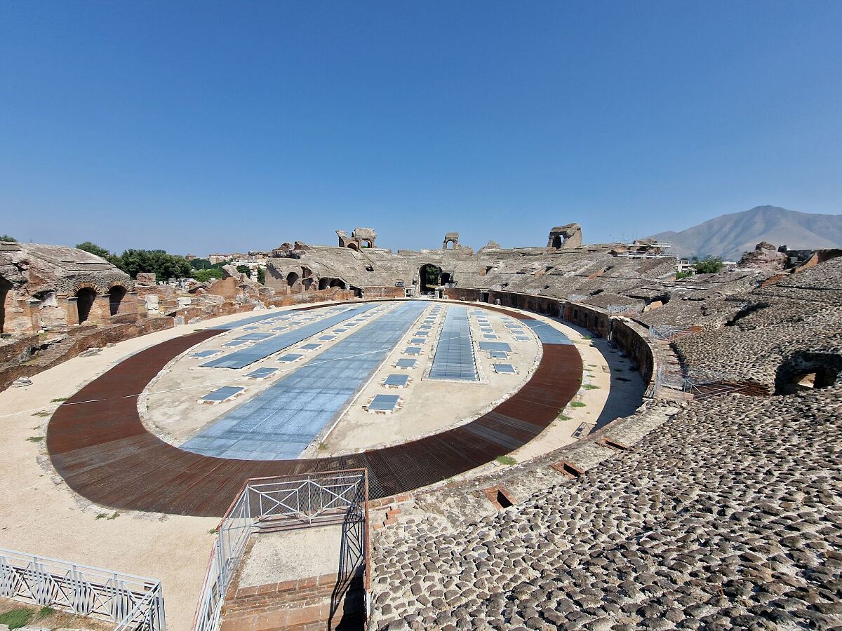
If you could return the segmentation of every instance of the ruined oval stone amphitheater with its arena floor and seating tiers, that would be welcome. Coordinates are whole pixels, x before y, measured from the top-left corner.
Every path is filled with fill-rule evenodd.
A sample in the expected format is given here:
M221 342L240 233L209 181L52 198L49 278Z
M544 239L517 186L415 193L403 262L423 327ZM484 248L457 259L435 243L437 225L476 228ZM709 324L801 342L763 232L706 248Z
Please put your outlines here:
M264 285L0 243L0 606L842 628L842 252L676 279L575 223L477 252L336 232Z

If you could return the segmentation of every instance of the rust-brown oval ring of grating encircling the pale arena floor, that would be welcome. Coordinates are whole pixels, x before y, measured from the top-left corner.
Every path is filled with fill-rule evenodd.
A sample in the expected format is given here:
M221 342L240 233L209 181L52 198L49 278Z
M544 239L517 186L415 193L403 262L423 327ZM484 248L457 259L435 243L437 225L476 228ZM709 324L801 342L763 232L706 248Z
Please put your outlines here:
M312 305L303 309L316 309ZM497 310L530 320L515 310ZM511 452L557 419L581 384L572 344L542 344L535 374L509 399L464 426L400 445L320 459L237 460L189 453L147 431L136 395L172 358L221 329L177 337L125 359L52 416L47 449L81 496L120 510L220 517L242 482L270 475L365 468L370 497L392 496L459 475ZM84 406L73 405L86 401Z

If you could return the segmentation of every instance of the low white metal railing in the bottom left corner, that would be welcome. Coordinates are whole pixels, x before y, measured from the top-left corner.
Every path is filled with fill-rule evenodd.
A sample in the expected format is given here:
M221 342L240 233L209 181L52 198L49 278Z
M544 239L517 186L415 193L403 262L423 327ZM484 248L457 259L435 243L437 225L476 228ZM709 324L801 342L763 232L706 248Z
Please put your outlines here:
M120 631L164 631L160 581L0 549L0 597L110 620Z

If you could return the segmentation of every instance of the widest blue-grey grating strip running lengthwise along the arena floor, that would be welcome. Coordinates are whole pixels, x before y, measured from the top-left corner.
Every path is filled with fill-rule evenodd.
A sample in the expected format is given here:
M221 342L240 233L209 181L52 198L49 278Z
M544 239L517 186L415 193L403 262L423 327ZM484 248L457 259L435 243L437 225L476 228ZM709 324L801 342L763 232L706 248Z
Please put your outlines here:
M297 458L360 391L428 305L403 303L379 315L181 448L220 458Z

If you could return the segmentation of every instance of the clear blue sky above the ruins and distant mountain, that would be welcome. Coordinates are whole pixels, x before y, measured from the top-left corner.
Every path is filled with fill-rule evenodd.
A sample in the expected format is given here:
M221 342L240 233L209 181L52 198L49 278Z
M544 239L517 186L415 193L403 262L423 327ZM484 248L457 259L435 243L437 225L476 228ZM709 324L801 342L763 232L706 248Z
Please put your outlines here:
M205 254L842 212L842 2L0 3L0 234Z

